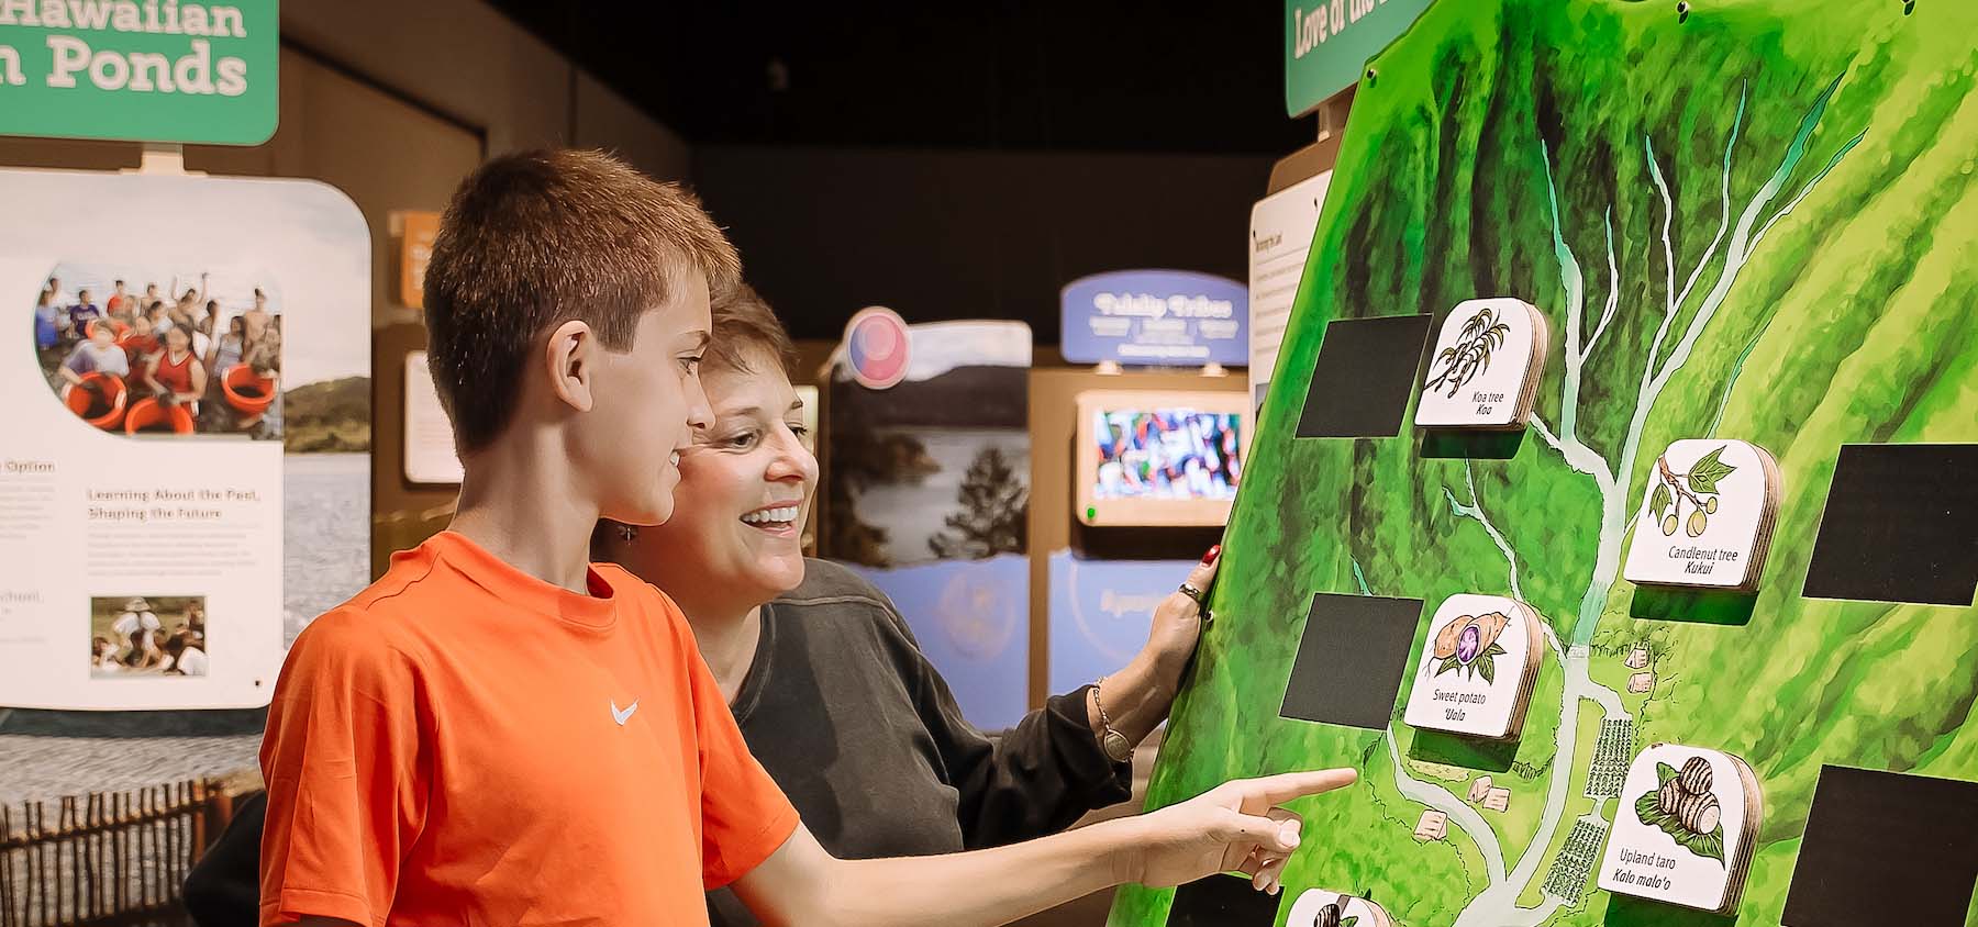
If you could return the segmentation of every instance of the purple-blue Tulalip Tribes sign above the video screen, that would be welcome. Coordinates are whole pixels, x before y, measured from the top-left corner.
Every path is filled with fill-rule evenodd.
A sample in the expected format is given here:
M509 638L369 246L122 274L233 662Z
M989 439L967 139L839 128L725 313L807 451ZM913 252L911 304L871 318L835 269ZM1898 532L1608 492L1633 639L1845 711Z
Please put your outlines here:
M1064 360L1122 366L1244 366L1250 291L1195 271L1114 271L1080 277L1060 296Z

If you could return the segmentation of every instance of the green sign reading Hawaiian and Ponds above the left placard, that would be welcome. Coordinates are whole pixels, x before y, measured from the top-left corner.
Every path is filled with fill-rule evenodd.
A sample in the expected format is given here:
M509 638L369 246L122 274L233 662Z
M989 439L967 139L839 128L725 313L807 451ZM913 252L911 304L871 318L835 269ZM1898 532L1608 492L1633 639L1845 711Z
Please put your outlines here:
M261 144L277 0L0 0L0 134Z

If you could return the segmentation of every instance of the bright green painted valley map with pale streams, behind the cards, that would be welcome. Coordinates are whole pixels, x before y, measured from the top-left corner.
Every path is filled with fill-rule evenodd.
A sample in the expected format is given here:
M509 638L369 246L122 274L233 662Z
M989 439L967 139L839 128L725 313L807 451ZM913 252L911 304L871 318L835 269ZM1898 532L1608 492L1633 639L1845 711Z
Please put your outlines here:
M1442 0L1369 61L1149 806L1357 767L1294 804L1280 925L1305 887L1402 927L1776 925L1824 763L1978 779L1974 609L1802 597L1842 445L1978 441L1974 36L1972 2ZM1551 330L1515 457L1294 437L1329 322L1478 296ZM1749 619L1632 617L1624 555L1679 439L1778 463ZM1313 593L1422 599L1424 627L1454 593L1529 603L1549 652L1515 749L1426 741L1412 674L1387 731L1280 717ZM1658 741L1762 787L1735 917L1596 887ZM1671 795L1640 814L1709 814ZM1122 889L1110 923L1171 897Z

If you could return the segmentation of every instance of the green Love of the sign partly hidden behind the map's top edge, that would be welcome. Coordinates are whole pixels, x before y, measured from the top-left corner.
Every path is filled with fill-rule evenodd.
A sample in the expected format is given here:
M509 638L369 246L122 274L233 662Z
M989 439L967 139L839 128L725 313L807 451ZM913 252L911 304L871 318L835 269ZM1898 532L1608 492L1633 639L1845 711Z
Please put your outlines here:
M1284 0L1284 115L1302 117L1361 79L1430 0Z

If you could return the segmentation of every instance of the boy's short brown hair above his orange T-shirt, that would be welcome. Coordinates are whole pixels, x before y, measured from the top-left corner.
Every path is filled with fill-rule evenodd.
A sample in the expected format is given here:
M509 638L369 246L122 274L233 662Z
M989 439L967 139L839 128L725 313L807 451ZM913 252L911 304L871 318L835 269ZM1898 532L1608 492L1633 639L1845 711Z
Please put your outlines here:
M427 362L459 451L508 427L546 330L582 320L605 348L631 350L639 316L690 271L712 293L742 265L678 184L585 150L504 154L469 174L425 267Z

